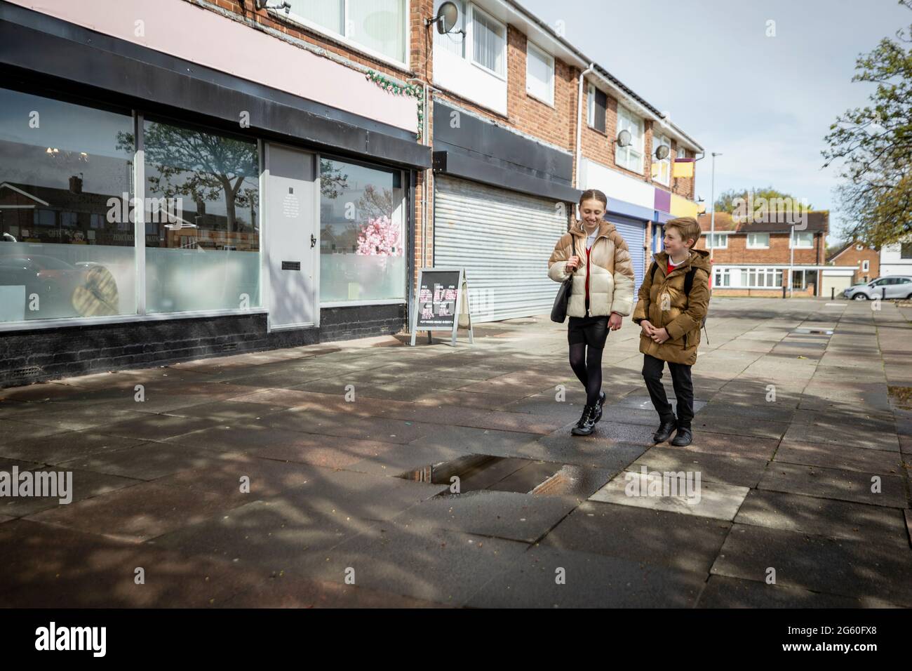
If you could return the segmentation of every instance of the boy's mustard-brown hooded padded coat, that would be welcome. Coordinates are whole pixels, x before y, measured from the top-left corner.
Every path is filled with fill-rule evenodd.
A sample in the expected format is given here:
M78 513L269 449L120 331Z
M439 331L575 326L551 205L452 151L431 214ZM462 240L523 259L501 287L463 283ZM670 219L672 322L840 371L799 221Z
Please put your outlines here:
M668 274L668 253L657 252L658 267L650 278L650 268L640 285L637 309L633 320L637 324L648 320L657 329L668 331L668 340L662 344L645 333L639 336L639 351L665 362L697 362L700 345L700 323L710 305L710 253L705 249L692 249L690 256ZM684 293L684 276L691 267L697 268L693 276L690 295Z

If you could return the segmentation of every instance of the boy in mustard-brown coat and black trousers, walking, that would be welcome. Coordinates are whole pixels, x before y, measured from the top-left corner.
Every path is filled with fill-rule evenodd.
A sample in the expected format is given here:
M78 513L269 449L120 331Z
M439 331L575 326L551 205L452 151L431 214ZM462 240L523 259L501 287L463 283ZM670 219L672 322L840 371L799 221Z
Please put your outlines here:
M673 446L688 446L693 440L690 366L697 362L700 326L710 303L710 253L693 248L699 239L700 224L693 217L672 219L665 225L665 251L655 255L633 313L643 331L639 337L643 379L659 418L652 438L661 443L677 429ZM662 384L666 362L678 399L677 417Z

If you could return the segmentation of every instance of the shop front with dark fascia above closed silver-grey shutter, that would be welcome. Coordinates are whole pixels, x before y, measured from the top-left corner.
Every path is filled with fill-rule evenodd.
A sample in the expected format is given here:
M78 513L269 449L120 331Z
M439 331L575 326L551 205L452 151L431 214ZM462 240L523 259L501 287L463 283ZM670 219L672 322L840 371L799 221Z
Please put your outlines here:
M551 311L547 259L581 193L572 174L569 152L435 100L433 261L465 269L473 322Z

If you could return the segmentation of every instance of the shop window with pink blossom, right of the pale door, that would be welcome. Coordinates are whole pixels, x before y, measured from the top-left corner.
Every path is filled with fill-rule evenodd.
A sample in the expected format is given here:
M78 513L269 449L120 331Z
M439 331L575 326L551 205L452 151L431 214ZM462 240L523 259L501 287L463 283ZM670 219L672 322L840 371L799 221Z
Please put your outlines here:
M405 299L402 175L320 159L320 300Z

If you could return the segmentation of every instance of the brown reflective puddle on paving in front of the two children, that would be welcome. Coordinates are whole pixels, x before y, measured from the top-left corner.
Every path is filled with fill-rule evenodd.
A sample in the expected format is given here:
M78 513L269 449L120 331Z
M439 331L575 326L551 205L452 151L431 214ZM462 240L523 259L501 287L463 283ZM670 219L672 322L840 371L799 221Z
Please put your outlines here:
M600 468L513 456L466 455L452 461L415 468L398 477L434 485L450 485L453 476L460 478L460 493L463 494L488 489L588 498L605 485L611 473ZM445 495L449 495L449 492Z

